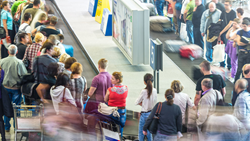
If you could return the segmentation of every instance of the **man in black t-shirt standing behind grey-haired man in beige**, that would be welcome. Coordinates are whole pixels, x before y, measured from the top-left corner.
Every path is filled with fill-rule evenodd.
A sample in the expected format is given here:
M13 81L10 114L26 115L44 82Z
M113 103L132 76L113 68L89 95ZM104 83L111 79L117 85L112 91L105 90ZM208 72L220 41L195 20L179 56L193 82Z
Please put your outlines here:
M226 95L226 83L224 82L224 80L222 79L222 77L220 75L216 75L216 74L212 74L211 72L211 66L210 63L208 61L203 61L200 64L200 68L201 68L201 72L204 74L204 76L202 78L200 78L197 83L196 83L196 95L195 95L195 99L194 99L194 104L198 105L198 102L200 100L200 98L202 96L204 96L204 91L202 89L202 85L201 82L203 79L205 78L210 78L213 80L213 89L218 90L223 97L225 97Z

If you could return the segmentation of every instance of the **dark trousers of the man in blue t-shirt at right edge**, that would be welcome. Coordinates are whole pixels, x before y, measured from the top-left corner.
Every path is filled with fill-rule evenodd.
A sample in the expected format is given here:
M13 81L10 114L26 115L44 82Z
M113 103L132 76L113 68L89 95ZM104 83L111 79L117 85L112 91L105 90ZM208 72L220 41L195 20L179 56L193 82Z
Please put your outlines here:
M237 72L234 78L234 83L240 78L240 74L242 73L242 67L248 63L250 63L250 52L239 51L238 68L237 68Z

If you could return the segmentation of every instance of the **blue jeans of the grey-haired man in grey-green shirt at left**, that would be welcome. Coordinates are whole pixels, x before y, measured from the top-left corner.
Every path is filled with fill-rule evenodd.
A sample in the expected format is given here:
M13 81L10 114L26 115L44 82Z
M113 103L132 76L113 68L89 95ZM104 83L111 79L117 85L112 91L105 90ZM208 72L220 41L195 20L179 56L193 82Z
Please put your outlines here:
M22 93L20 89L18 90L12 90L12 89L7 89L7 88L5 89L8 91L8 94L12 103L15 103L16 105L20 105L22 101ZM5 130L10 130L10 127L11 127L10 118L6 116L4 116L4 126L5 126ZM15 127L14 118L13 118L13 126Z

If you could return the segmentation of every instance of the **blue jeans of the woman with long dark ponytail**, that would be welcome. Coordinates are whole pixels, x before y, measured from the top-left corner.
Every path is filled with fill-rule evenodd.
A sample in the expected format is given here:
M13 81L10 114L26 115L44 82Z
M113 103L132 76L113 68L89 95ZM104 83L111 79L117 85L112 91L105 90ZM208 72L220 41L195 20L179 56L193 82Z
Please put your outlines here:
M151 112L148 113L141 113L140 121L139 121L139 141L144 141L144 135L143 135L143 126L150 115ZM152 141L152 134L147 131L147 141Z

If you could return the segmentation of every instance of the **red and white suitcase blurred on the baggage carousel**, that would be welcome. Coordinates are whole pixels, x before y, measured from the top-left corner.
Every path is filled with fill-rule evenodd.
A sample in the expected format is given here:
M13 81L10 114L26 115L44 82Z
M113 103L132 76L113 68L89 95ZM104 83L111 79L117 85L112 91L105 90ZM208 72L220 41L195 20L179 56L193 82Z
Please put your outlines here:
M180 56L191 60L201 58L203 50L198 45L183 45L180 48Z

